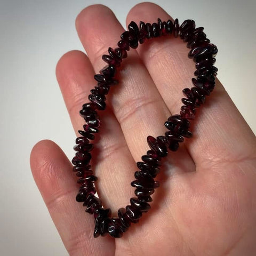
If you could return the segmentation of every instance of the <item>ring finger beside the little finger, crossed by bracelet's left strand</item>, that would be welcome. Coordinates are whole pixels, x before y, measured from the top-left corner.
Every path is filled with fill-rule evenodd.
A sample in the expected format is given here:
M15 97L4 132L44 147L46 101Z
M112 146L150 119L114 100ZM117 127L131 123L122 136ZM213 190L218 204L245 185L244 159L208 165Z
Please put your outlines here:
M90 60L82 52L68 52L59 60L56 74L74 129L83 130L85 121L79 116L79 110L89 101L87 97L95 85ZM95 134L99 140L92 142L91 165L99 178L96 186L102 203L117 211L134 193L127 185L134 179L136 165L114 114L106 109L104 113L99 111L99 115L102 115L100 133ZM115 194L118 197L113 197Z

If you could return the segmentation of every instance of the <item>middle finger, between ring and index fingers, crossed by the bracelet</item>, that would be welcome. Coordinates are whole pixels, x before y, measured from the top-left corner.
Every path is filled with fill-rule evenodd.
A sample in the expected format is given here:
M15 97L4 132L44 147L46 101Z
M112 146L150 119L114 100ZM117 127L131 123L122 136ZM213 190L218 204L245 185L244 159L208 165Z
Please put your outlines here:
M94 19L96 15L98 18ZM107 54L109 46L117 45L124 31L114 13L103 5L84 9L76 19L76 28L94 70L104 66L101 56ZM108 99L132 156L135 161L140 161L140 156L148 150L147 136L164 133L163 123L170 111L138 54L131 49L123 62L123 69L119 70L120 83L113 88L113 96L109 95ZM190 156L184 155L188 168L193 169Z

